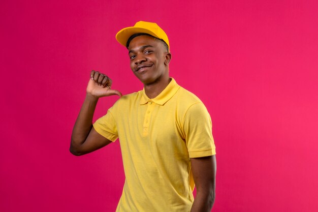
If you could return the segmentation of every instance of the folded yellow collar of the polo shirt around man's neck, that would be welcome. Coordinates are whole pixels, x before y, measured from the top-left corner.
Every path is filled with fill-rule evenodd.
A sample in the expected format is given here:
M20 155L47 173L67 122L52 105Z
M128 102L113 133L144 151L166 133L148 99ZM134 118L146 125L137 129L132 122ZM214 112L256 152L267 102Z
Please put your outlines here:
M177 84L177 82L171 78L170 83L167 85L167 87L155 98L149 99L145 93L145 88L142 90L142 96L140 99L140 104L144 105L148 102L154 102L158 105L164 105L168 100L170 100L173 95L177 92L177 90L180 88L180 85Z

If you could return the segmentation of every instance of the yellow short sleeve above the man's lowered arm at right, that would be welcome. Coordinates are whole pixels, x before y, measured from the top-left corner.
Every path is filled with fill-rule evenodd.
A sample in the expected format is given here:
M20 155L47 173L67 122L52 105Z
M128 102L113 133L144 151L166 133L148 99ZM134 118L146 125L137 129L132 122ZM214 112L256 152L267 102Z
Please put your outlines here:
M190 158L215 155L211 117L202 102L193 104L186 111L183 131Z

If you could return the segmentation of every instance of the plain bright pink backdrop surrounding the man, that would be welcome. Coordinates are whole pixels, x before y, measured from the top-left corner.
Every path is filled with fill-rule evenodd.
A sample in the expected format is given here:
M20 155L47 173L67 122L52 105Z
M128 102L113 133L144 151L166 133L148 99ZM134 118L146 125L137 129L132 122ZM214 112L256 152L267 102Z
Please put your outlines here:
M142 88L115 40L139 20L165 29L171 76L211 114L213 211L318 211L317 11L317 1L2 1L0 211L115 210L119 143L75 157L70 137L92 69L123 94ZM100 100L94 119L116 100Z

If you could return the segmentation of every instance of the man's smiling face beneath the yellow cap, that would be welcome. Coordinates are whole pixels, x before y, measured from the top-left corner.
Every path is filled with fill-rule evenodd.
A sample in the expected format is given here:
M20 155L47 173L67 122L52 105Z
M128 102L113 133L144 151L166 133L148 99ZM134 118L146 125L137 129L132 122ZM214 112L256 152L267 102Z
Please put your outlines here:
M160 81L169 77L167 54L160 41L146 35L134 38L128 47L130 66L136 77L144 84ZM166 63L165 63L166 62Z

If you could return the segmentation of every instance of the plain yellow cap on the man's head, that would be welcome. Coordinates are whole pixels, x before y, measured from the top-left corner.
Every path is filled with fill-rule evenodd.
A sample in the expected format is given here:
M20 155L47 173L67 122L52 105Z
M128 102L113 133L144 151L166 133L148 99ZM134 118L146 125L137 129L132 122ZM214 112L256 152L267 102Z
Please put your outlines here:
M153 37L162 39L170 48L168 36L165 31L163 31L158 24L146 21L138 21L134 26L121 29L121 31L116 34L116 40L126 47L128 39L136 33L147 33Z

